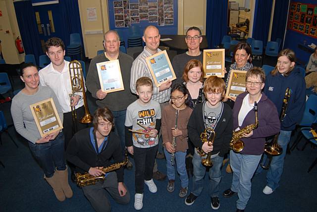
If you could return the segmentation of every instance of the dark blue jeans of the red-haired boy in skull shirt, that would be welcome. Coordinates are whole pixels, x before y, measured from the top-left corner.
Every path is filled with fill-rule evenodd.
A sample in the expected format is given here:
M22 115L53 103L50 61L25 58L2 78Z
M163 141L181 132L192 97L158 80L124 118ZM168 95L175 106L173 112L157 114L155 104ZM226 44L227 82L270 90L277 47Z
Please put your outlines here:
M219 184L221 180L221 166L223 157L217 156L211 161L213 165L209 169L209 195L215 197L219 194ZM195 196L200 196L204 188L204 177L206 174L206 167L202 164L202 158L195 151L193 157L193 189L192 193Z

